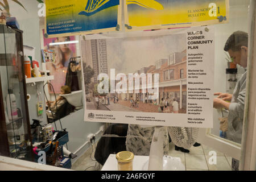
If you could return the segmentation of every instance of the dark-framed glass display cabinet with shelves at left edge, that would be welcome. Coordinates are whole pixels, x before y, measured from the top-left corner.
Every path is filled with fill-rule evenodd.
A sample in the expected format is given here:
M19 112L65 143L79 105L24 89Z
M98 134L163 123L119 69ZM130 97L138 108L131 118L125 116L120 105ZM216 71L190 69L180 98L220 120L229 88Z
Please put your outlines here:
M33 161L22 34L0 24L0 155Z

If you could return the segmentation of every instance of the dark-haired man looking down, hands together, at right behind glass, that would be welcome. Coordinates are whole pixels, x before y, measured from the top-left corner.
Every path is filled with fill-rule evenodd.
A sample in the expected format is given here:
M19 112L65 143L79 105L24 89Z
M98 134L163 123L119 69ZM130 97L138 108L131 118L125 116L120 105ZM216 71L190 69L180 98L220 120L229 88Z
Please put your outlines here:
M243 31L236 31L229 36L226 41L224 50L229 53L229 56L234 60L235 64L241 67L247 67L247 46L248 35ZM236 69L236 68L229 68ZM228 80L230 81L230 79ZM227 83L228 84L228 83ZM230 93L214 93L213 107L216 109L226 109L229 111L228 118L221 118L222 125L228 127L222 128L222 135L225 138L241 143L242 140L242 123L243 123L243 109L245 106L246 95L246 71L241 76L240 80L236 82L233 94Z

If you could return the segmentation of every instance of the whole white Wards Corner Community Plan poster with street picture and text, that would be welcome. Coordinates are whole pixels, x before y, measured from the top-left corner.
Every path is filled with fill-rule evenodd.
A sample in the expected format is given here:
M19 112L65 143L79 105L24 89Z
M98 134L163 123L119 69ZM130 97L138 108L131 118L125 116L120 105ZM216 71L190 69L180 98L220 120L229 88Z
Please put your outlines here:
M142 33L81 41L84 120L212 127L213 28Z

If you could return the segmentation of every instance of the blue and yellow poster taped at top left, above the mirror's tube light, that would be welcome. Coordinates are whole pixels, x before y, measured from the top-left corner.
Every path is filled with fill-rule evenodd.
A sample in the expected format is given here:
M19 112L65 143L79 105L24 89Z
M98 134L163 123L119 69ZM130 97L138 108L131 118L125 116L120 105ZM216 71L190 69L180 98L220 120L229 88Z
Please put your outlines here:
M121 20L120 3L119 0L46 0L47 34L56 37L115 31Z

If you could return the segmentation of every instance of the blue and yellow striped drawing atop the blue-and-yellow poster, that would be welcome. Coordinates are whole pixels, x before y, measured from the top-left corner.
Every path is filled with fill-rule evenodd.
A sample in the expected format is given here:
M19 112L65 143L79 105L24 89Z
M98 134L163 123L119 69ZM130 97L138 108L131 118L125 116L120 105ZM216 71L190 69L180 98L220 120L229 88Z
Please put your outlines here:
M90 16L97 13L98 11L116 5L119 5L119 0L88 0L85 11L81 11L79 15Z

